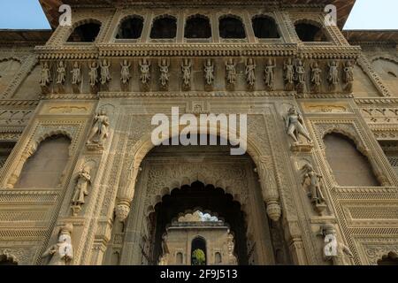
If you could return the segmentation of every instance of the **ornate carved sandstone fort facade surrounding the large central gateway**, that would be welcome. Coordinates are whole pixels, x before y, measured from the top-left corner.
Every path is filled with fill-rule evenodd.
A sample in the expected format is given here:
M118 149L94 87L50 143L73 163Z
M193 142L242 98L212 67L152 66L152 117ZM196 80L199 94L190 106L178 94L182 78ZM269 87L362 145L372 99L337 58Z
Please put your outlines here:
M159 264L195 209L238 264L396 264L398 32L341 31L354 0L40 2L52 30L0 31L2 264ZM154 146L172 107L247 114L247 153Z

